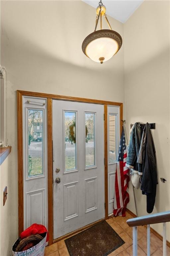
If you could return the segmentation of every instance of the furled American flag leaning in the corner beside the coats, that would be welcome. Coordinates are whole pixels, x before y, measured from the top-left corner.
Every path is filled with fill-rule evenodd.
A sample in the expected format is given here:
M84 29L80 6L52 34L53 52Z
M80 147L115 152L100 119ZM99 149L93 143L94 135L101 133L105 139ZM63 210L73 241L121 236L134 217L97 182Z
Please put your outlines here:
M126 216L126 207L129 202L128 194L128 182L129 174L128 167L126 167L127 161L127 148L125 140L124 127L122 130L122 136L119 146L119 156L116 170L115 179L115 198L114 198L114 210L113 214L115 216Z

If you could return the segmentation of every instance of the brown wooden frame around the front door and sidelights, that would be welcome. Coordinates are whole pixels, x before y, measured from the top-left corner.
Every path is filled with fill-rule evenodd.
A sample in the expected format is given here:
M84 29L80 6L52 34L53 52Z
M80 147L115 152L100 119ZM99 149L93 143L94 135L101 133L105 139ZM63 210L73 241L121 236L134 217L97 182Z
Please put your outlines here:
M47 172L48 172L48 245L53 243L53 166L52 166L52 100L66 100L104 105L104 154L105 154L105 219L108 219L108 105L120 107L120 133L122 133L123 103L105 100L86 99L63 95L17 90L18 112L18 232L24 230L23 192L23 96L47 98ZM84 227L87 228L87 227Z

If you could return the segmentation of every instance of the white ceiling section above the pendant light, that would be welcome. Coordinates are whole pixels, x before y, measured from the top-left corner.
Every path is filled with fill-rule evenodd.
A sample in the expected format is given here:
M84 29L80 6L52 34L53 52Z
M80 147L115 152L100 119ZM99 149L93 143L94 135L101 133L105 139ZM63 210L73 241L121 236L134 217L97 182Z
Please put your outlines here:
M97 7L99 0L83 0L85 3ZM106 6L106 13L116 20L125 23L141 5L143 0L102 0Z

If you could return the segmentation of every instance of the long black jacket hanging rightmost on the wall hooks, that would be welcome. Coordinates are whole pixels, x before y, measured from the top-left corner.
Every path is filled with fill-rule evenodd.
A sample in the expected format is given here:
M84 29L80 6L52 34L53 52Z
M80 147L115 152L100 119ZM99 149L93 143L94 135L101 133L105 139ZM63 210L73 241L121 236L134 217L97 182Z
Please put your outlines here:
M155 204L156 184L158 184L158 179L156 151L148 123L146 123L143 130L137 163L142 166L140 189L142 190L142 194L145 194L147 198L147 212L151 213Z

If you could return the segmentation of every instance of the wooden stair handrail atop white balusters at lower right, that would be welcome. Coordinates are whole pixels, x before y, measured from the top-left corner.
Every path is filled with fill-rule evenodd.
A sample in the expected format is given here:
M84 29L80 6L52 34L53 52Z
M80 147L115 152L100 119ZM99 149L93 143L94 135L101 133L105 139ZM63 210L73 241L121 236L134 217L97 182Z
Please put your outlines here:
M155 213L147 216L137 217L127 220L129 227L142 226L148 224L162 223L170 221L170 211Z

